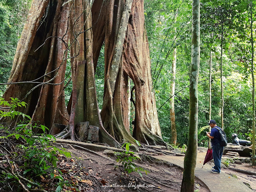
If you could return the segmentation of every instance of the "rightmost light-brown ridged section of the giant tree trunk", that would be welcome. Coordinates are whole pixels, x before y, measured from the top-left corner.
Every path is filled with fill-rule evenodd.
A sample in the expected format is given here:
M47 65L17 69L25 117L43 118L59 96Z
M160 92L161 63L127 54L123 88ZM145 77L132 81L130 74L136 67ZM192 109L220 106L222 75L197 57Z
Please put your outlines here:
M128 44L124 52L124 71L135 85L133 136L142 143L165 144L156 111L148 38L144 24L144 2L134 1L128 24Z

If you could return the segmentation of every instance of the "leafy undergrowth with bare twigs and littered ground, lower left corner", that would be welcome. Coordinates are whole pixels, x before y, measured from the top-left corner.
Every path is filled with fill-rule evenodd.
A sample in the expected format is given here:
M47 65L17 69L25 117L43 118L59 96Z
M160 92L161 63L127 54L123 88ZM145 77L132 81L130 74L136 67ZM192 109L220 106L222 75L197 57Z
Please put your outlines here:
M32 125L30 116L16 111L16 108L26 107L25 102L17 98L5 101L0 98L0 106L8 111L0 110L0 119L22 116L22 121L14 127L0 123L0 191L46 191L41 189L40 182L57 180L56 192L62 191L64 184L70 185L62 178L62 172L57 168L58 156L70 158L69 152L52 146L56 141L54 136L47 134L49 130L44 125ZM1 108L0 108L1 109ZM42 134L32 130L38 128ZM50 184L48 185L50 187Z

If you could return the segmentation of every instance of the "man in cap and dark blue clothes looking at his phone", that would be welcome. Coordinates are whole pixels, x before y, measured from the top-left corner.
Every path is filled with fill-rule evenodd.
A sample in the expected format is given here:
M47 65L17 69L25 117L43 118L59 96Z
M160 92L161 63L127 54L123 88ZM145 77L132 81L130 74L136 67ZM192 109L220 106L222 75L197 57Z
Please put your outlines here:
M212 167L213 173L220 173L220 163L223 153L223 147L220 146L221 138L218 129L220 129L215 120L210 120L211 132L206 133L206 135L212 140L212 157L214 160L214 167Z

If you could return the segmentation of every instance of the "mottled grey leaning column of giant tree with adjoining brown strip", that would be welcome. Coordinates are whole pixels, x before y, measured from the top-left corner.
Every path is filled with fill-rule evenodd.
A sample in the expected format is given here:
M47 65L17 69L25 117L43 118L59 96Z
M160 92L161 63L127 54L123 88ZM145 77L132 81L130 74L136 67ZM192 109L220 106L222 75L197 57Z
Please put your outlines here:
M110 0L106 14L104 100L101 111L104 128L122 143L135 144L122 116L123 49L132 0ZM126 101L127 102L127 101Z

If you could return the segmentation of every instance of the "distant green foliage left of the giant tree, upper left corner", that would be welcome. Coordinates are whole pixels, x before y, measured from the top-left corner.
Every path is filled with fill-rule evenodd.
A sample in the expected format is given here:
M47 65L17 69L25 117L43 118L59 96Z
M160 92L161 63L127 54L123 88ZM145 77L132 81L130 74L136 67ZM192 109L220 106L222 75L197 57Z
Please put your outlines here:
M0 83L8 80L31 0L0 0ZM0 86L0 96L5 90Z

